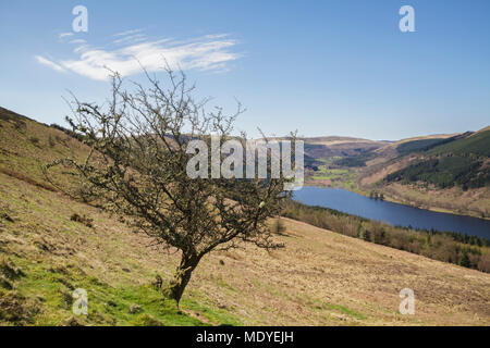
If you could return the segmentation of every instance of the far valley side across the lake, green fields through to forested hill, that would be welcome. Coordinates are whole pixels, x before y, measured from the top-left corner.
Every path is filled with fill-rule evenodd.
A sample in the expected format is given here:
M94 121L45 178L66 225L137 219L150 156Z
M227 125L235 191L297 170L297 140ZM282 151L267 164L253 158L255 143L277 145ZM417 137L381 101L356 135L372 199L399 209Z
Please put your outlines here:
M489 217L489 127L377 142L358 153L323 151L313 160L320 164L307 172L307 184L366 196L382 192L388 200L417 208Z

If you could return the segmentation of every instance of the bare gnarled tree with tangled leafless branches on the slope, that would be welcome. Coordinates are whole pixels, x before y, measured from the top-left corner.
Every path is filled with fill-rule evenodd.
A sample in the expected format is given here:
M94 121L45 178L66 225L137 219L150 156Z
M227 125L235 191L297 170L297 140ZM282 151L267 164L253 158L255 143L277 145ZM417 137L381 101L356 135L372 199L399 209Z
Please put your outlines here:
M238 103L230 116L221 108L207 112L208 100L196 101L194 86L187 86L182 72L167 73L167 87L146 73L147 84L131 83L131 90L113 74L105 105L73 97L74 115L68 121L90 153L81 162L60 159L47 171L54 165L75 169L83 179L76 197L103 204L156 244L181 251L168 289L179 303L192 272L212 250L235 248L240 241L282 247L273 241L266 221L280 213L289 179L189 178L189 141L208 144L210 134L218 134L221 144L230 139L243 109ZM246 136L234 139L244 142Z

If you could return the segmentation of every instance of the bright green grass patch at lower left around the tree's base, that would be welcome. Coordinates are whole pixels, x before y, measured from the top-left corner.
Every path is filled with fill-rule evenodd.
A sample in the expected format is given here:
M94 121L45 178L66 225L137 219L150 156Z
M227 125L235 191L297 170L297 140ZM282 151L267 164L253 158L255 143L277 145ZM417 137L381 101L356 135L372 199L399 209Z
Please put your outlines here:
M164 325L209 326L240 325L241 322L224 310L211 310L195 300L184 299L179 309L173 300L166 299L152 285L113 287L88 276L75 265L52 266L45 262L29 263L25 259L9 257L9 262L19 266L23 276L13 283L14 289L1 289L2 297L23 301L19 308L22 319L11 324L24 325ZM73 290L82 288L88 293L88 315L72 313ZM136 311L130 311L137 308ZM206 322L191 316L186 311L199 313ZM30 314L28 314L30 313ZM7 314L5 314L7 315ZM3 315L3 316L5 316ZM0 323L2 318L0 308Z

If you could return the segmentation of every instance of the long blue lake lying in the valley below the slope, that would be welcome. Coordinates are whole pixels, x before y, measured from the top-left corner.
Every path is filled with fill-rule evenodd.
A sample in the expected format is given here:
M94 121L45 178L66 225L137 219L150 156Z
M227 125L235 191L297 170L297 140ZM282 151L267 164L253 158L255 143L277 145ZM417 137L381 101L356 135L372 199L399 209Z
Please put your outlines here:
M439 213L388 201L375 200L340 188L303 187L293 199L307 206L335 209L392 225L460 232L490 239L490 221Z

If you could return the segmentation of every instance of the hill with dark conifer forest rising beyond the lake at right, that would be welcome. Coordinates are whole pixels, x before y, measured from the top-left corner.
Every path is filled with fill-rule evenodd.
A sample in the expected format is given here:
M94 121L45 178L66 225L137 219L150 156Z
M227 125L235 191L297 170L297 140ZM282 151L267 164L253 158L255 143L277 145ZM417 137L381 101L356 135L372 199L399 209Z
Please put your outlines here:
M388 197L427 209L490 216L489 129L431 144L412 141L397 150L400 157L388 162L375 183ZM366 178L369 175L360 182Z

